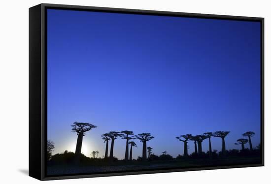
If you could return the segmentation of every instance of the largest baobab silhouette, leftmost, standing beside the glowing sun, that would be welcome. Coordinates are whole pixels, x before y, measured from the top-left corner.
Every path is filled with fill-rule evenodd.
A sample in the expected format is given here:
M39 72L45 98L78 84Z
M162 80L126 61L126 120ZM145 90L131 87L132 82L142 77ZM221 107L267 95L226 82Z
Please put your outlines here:
M79 122L74 122L71 125L72 132L76 132L78 137L77 137L77 143L76 143L76 149L75 149L75 155L74 155L74 162L77 164L80 161L80 155L81 155L81 149L82 149L82 143L83 143L83 136L85 136L85 132L97 128L97 126L91 124L91 123L79 123Z

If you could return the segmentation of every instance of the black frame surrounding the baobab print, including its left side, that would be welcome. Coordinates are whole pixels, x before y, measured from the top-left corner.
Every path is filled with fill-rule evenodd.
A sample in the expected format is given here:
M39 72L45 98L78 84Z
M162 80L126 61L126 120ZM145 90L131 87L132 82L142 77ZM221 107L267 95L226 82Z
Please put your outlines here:
M211 166L182 169L163 169L148 171L129 171L101 174L76 174L66 176L46 175L46 9L68 9L82 11L116 12L128 14L147 14L177 17L194 17L205 19L226 19L257 21L261 23L261 163L232 165L232 166ZM136 10L122 8L105 8L77 5L46 4L42 3L29 9L29 176L38 180L58 180L73 178L89 178L119 175L135 175L148 173L165 173L180 171L196 171L209 169L225 169L239 167L264 166L264 18L241 17L226 15L211 15L198 13L179 13L152 10Z

